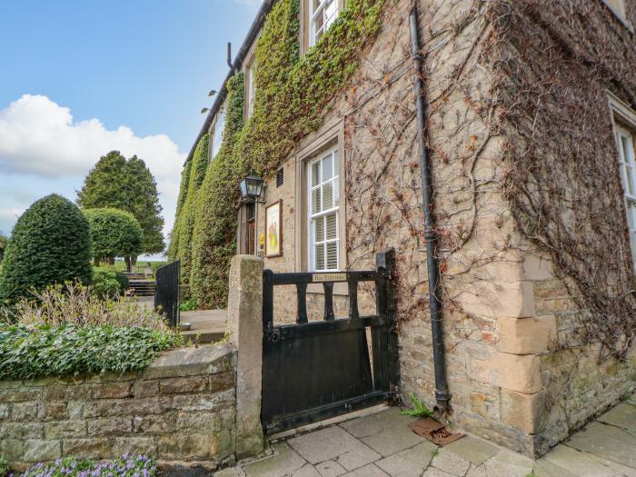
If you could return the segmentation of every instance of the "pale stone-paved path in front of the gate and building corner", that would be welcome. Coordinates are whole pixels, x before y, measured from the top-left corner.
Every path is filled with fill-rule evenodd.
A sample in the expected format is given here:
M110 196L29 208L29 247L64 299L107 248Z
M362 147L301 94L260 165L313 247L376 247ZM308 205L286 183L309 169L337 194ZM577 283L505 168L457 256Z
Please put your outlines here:
M636 395L635 395L636 396ZM466 436L438 447L383 408L323 423L272 444L272 455L217 477L636 477L636 397L606 412L538 461Z

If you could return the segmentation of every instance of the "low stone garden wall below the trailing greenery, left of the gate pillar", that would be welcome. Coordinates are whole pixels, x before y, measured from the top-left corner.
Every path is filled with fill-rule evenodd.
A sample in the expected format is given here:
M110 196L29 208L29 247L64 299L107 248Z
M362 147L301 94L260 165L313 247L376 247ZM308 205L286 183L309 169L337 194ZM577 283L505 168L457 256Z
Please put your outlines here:
M16 467L142 452L214 470L234 460L234 346L164 353L141 373L0 382L0 455Z

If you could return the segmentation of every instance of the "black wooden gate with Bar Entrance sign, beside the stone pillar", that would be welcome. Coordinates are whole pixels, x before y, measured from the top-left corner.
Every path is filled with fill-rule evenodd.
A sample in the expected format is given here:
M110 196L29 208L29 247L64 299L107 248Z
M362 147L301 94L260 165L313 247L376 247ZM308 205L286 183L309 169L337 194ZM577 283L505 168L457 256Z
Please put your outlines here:
M376 270L263 273L263 401L265 432L281 432L393 398L398 379L393 250ZM333 284L345 282L349 316L333 313ZM358 283L375 285L375 313L361 316ZM308 322L309 283L322 283L323 321ZM295 285L296 324L273 324L273 287ZM367 330L371 331L371 354Z

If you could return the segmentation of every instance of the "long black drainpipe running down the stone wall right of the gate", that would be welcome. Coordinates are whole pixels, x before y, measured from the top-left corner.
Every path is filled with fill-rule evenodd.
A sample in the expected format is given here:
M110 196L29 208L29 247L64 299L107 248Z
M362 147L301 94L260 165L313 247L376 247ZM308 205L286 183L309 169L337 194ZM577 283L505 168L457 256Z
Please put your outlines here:
M426 263L428 264L429 303L431 308L432 328L432 361L435 368L435 410L440 414L449 410L451 395L446 383L446 362L444 358L444 341L442 331L442 303L439 299L440 273L435 259L436 238L432 223L431 196L432 178L428 151L424 141L426 134L424 87L422 81L422 55L418 34L417 5L411 10L411 56L415 82L415 113L417 114L417 142L420 149L420 172L422 174L422 209L424 212L424 238L426 239Z

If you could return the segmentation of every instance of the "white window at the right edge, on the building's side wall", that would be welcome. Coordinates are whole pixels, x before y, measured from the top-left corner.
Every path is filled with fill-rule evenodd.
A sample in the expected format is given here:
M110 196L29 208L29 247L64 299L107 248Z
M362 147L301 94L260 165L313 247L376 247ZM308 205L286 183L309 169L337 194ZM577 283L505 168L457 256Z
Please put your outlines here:
M627 224L630 229L631 256L633 257L634 272L636 272L636 148L634 148L631 131L616 124L615 134L619 161L621 162Z

